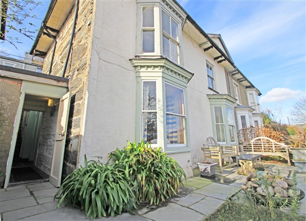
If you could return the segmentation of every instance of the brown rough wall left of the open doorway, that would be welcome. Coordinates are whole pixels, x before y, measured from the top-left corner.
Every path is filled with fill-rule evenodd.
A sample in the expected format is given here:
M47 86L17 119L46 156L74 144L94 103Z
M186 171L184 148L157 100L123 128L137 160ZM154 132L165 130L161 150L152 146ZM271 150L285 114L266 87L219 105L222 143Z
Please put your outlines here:
M0 186L3 186L22 81L0 77Z

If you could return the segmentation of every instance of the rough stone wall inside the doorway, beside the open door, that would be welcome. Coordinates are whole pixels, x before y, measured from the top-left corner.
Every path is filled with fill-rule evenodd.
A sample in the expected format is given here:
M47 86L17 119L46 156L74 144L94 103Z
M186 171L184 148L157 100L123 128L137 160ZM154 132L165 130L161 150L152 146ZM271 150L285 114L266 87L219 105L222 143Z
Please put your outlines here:
M50 110L51 107L46 107L43 113L36 160L36 166L47 174L50 174L51 170L59 102L55 106L53 116L50 116Z

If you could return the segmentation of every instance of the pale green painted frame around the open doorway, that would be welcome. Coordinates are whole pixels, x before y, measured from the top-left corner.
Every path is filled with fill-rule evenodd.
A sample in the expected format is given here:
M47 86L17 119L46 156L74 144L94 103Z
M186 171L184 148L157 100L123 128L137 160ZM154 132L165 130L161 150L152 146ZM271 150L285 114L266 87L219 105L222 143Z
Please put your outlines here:
M50 97L50 98L61 98L66 93L67 93L67 87L42 84L39 82L28 81L28 80L22 81L21 95L20 95L19 105L17 109L17 114L15 117L13 136L11 140L11 148L10 148L10 153L9 153L9 157L7 161L4 188L8 187L9 181L10 181L12 163L13 163L14 152L15 152L15 145L16 145L16 140L17 140L17 133L19 129L25 94Z

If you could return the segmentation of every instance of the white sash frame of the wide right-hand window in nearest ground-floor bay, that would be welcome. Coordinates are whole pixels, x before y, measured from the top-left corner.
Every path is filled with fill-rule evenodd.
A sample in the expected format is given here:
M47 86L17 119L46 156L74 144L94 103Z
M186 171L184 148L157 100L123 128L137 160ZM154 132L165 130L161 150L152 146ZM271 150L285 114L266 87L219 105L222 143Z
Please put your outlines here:
M181 87L177 87L173 84L170 84L169 82L165 81L164 85L166 86L166 84L172 86L172 87L175 87L175 88L178 88L180 90L183 90L183 96L184 96L184 115L180 115L180 114L174 114L174 113L171 113L171 112L167 112L167 108L165 108L165 113L166 115L173 115L173 116L179 116L179 117L183 117L183 130L184 130L184 144L167 144L167 148L173 148L173 147L186 147L187 146L187 136L186 136L186 100L185 100L185 89L181 88ZM166 90L164 90L164 96L166 97ZM164 104L166 105L166 99L164 101ZM166 118L167 119L167 118ZM165 128L165 131L167 133L167 122L166 122L166 119L165 119L165 125L164 125L164 128ZM166 139L167 139L167 135L166 135Z

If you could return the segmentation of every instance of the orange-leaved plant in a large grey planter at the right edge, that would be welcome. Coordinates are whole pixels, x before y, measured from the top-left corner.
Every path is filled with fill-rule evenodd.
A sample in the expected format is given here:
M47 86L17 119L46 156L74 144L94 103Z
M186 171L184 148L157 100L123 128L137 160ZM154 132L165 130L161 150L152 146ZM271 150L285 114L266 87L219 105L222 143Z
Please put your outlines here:
M293 155L294 165L297 167L298 172L306 172L306 128L299 128L296 130L296 137L289 140L293 147L290 151Z

